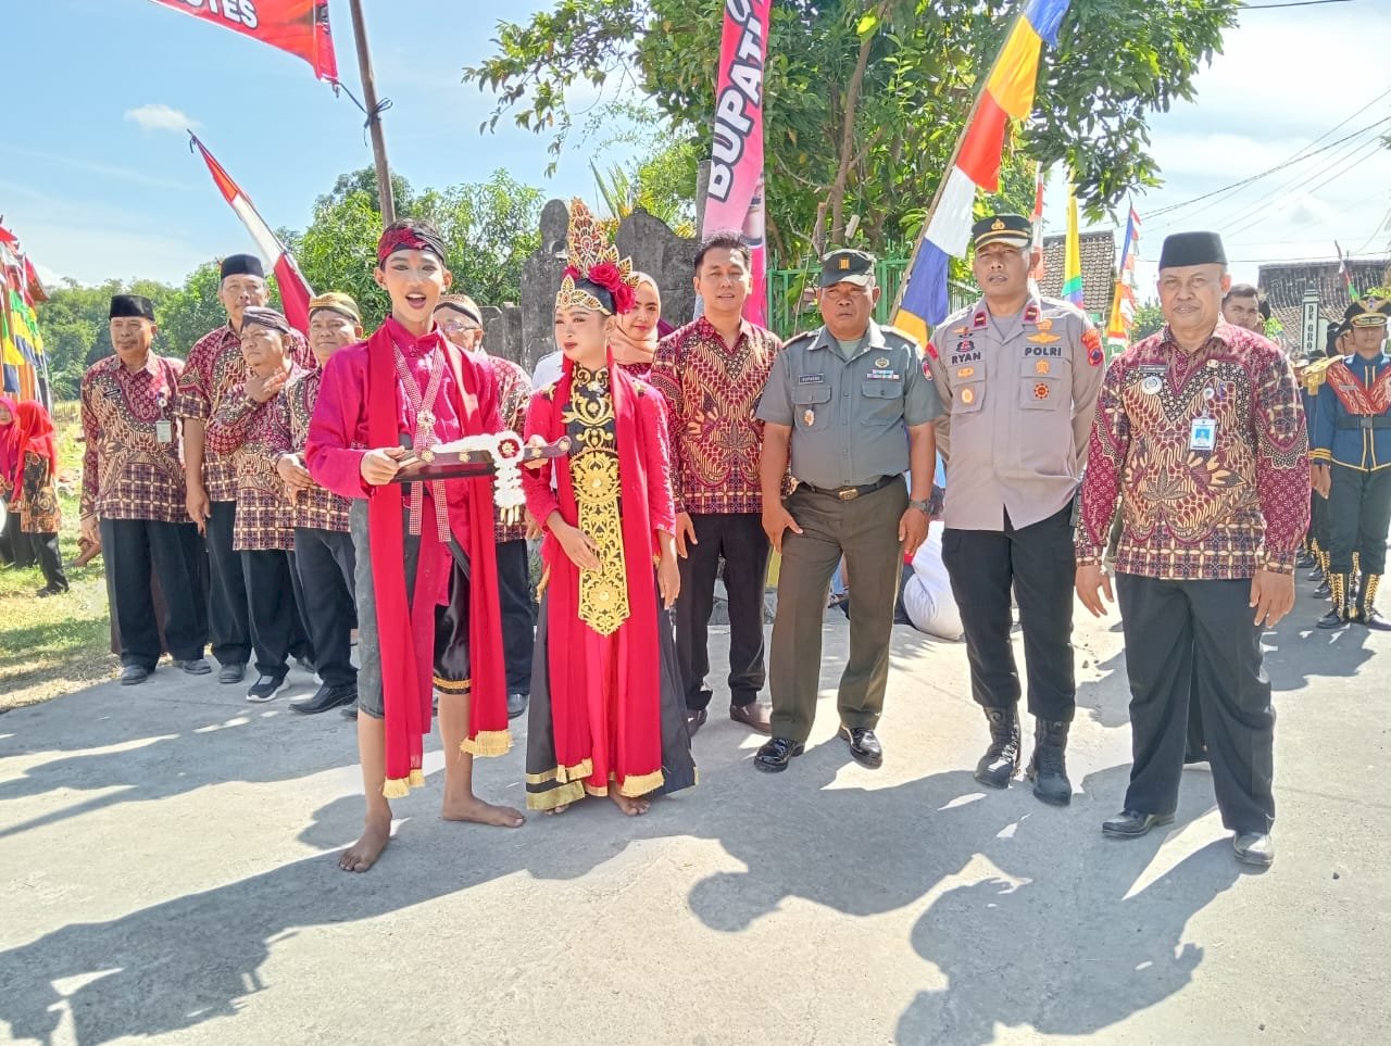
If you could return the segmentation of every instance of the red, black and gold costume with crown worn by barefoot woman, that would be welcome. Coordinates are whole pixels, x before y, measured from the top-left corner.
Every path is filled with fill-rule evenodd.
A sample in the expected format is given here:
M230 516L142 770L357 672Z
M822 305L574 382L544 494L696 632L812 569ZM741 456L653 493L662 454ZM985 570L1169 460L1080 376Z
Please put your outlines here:
M601 316L632 307L632 266L580 200L569 257L556 307ZM637 797L690 787L675 622L654 573L658 533L676 530L662 398L613 363L612 351L601 370L566 360L561 380L533 395L526 435L570 438L568 463L524 470L527 509L542 526L559 513L600 561L598 570L580 570L549 531L541 545L527 807L555 810L611 789Z

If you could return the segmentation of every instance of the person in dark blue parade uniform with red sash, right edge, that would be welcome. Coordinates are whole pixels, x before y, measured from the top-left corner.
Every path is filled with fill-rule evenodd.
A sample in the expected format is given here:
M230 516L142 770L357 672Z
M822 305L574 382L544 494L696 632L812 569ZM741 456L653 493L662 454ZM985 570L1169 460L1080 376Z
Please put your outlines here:
M1320 629L1348 622L1391 631L1376 609L1391 523L1391 357L1385 352L1391 300L1367 296L1348 306L1352 353L1334 360L1319 389L1309 456L1314 487L1328 498L1328 583L1333 608ZM1353 559L1362 581L1351 591Z

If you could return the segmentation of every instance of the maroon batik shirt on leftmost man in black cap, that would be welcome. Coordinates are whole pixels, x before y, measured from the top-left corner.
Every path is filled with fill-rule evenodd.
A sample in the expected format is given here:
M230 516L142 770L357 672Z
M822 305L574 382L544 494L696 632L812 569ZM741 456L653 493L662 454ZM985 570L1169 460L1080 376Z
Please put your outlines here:
M82 516L188 523L181 421L182 362L146 357L127 370L107 356L82 376Z

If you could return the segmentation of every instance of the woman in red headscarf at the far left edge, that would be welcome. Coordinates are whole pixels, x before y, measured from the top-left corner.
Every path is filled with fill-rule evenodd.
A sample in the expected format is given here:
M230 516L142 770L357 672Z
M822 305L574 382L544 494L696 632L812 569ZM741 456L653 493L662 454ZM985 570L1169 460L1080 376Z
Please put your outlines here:
M68 590L58 552L63 513L54 487L58 476L58 448L53 419L32 399L17 403L0 398L0 497L19 516L19 541L28 541L43 570L39 597Z

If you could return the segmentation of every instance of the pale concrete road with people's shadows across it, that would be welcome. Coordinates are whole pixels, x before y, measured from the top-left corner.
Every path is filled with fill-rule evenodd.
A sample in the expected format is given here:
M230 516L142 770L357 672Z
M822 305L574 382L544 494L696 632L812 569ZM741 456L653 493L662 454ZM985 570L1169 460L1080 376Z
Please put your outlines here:
M1174 826L1103 839L1129 764L1116 619L1078 608L1082 683L1047 808L971 779L960 645L896 629L886 764L835 740L846 625L787 773L716 715L701 786L640 819L588 800L516 832L399 801L367 875L351 723L161 669L0 716L0 1035L107 1043L1391 1042L1391 636L1270 633L1276 828L1242 869L1212 778ZM723 657L725 640L715 640ZM810 655L810 652L808 652ZM313 682L292 679L295 693ZM519 739L520 741L520 739ZM522 743L480 762L523 805Z

